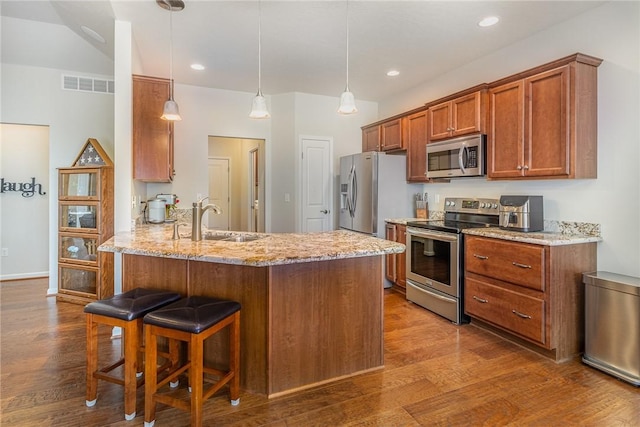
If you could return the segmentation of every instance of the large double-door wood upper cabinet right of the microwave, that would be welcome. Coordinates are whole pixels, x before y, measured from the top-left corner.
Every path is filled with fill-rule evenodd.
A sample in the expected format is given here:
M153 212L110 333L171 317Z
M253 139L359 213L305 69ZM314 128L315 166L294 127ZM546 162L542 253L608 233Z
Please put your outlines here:
M490 179L597 177L597 66L576 54L493 83Z

